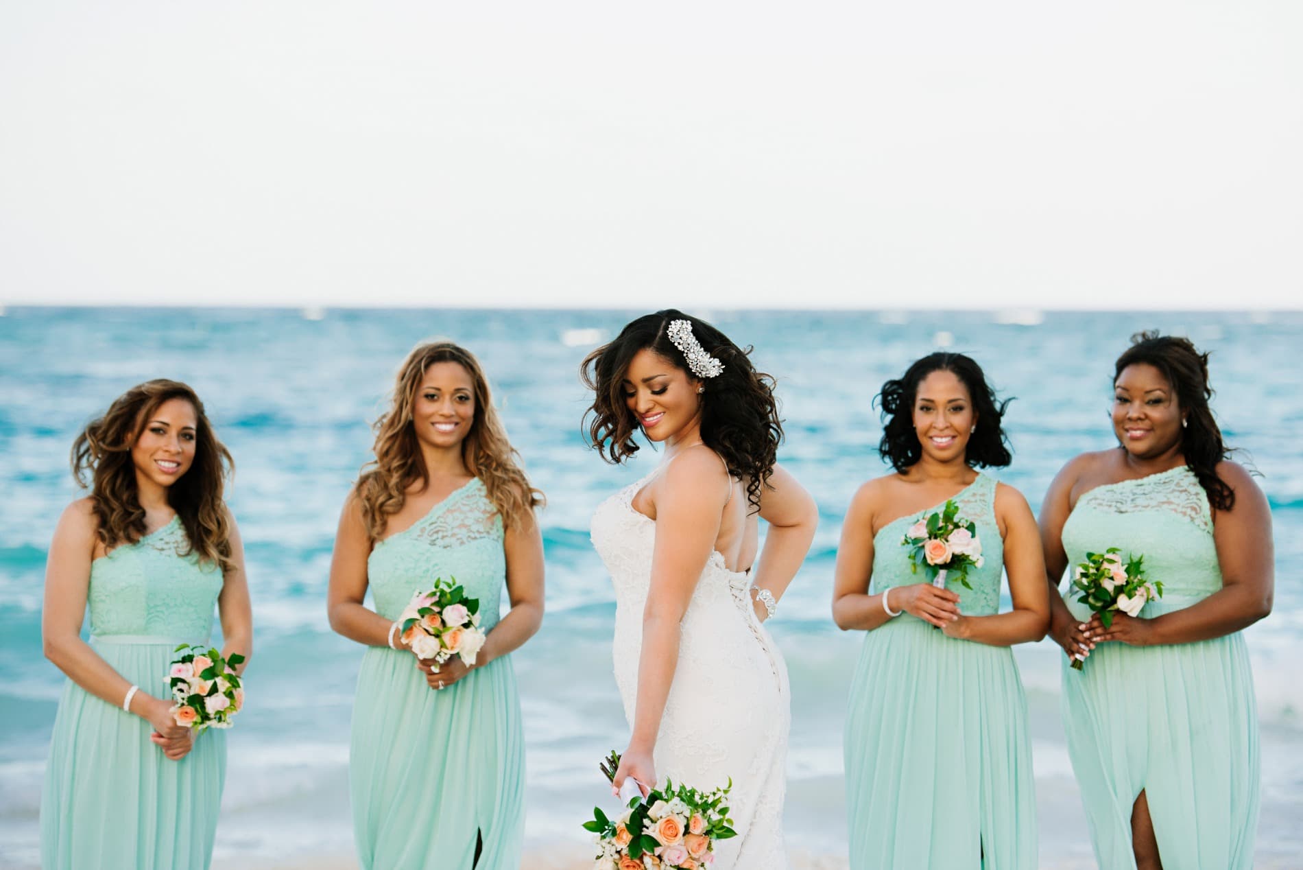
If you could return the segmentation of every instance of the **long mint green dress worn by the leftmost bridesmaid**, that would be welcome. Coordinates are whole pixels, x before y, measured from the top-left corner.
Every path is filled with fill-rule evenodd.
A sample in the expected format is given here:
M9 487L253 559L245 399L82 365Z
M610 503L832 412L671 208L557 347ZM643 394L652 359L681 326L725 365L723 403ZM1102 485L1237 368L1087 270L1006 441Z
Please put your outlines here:
M95 560L90 644L117 673L168 697L181 643L207 643L222 571L182 556L181 520ZM40 796L46 870L207 867L227 770L225 732L206 729L179 762L150 742L152 727L72 680L64 686Z

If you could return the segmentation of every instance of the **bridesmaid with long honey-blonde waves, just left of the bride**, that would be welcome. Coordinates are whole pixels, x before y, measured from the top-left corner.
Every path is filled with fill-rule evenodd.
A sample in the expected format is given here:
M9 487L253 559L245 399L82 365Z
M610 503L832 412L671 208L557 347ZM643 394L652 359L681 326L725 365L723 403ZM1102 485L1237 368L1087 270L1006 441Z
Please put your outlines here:
M543 617L542 494L480 364L451 342L408 355L374 453L344 502L330 577L331 627L367 647L349 751L358 860L366 870L519 870L525 758L508 653ZM439 578L480 600L487 639L473 667L453 657L434 670L396 630L413 593Z

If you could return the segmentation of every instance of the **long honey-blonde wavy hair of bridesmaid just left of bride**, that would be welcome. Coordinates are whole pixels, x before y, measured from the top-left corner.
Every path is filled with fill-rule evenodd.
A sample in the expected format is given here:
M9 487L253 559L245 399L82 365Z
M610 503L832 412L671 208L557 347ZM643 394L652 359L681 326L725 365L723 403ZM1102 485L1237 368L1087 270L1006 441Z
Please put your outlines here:
M489 381L470 351L452 342L418 344L399 369L390 408L374 423L375 459L362 467L353 492L362 507L362 522L371 540L384 533L390 517L407 502L407 490L420 480L430 483L430 471L417 443L412 411L421 380L435 363L456 363L470 376L476 397L476 415L461 442L461 460L478 477L489 501L508 527L519 526L525 517L543 505L543 493L529 485L520 468L520 455L507 440L507 430L498 419L489 391Z

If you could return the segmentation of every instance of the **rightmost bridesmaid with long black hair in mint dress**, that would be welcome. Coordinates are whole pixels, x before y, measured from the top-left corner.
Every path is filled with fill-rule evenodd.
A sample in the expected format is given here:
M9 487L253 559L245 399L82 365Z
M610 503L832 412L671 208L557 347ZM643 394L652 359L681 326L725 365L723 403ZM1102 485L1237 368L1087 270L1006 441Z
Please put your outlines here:
M1272 517L1230 462L1208 355L1141 333L1118 357L1119 446L1068 462L1041 507L1063 725L1101 867L1253 863L1259 753L1242 630L1272 609ZM1058 582L1087 552L1144 557L1164 586L1104 627ZM1071 657L1081 670L1068 668Z

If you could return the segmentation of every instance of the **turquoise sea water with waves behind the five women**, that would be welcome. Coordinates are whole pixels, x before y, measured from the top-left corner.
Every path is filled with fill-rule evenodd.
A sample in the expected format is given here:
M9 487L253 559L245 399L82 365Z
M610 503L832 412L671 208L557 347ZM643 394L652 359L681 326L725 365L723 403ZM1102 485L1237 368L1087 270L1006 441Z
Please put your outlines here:
M641 313L641 312L638 312ZM753 344L778 377L782 462L822 520L774 633L794 695L788 822L820 848L844 845L842 711L859 638L829 618L840 517L859 481L883 473L870 407L882 381L945 343L971 352L1010 406L1014 466L998 472L1036 507L1071 455L1110 445L1111 360L1139 329L1184 333L1213 351L1218 417L1263 472L1281 566L1276 610L1248 630L1264 730L1264 856L1303 850L1303 428L1296 369L1303 314L698 312ZM543 630L515 656L528 738L534 841L579 839L601 800L595 762L627 738L611 677L610 580L588 520L642 473L584 446L582 356L619 312L8 309L0 316L0 865L34 863L46 747L63 676L40 655L44 554L77 492L72 441L89 417L150 377L192 383L236 457L231 506L254 596L249 706L229 732L218 854L348 852L348 719L361 650L324 614L332 533L371 443L367 428L405 352L448 337L485 364L513 443L549 497ZM1054 650L1019 651L1032 704L1042 852L1083 854L1084 826L1058 724Z

